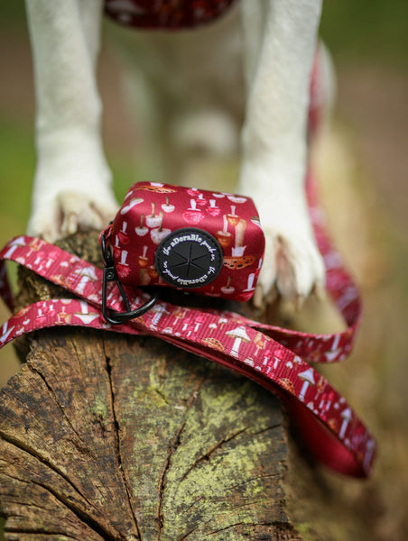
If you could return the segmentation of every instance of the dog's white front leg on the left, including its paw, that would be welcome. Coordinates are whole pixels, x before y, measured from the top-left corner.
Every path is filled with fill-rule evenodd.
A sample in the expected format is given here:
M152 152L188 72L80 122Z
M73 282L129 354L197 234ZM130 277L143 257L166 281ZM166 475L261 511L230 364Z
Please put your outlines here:
M100 137L100 0L27 0L36 90L37 168L29 233L49 240L115 215Z

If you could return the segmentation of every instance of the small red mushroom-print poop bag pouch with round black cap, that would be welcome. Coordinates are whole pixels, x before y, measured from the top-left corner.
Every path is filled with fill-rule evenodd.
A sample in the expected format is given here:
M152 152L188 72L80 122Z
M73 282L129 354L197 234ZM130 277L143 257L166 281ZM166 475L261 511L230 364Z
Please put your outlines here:
M264 256L252 199L153 182L129 189L100 240L122 296L122 285L165 286L246 301ZM130 318L116 316L111 323Z

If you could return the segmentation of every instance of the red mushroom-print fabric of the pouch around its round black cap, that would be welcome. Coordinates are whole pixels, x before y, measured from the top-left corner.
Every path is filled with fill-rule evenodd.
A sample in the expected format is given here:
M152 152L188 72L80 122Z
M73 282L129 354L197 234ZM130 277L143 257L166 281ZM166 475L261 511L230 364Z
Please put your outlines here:
M256 215L249 197L154 182L136 183L106 230L107 239L113 241L118 279L124 285L169 287L170 283L175 287L175 280L168 283L157 272L156 252L169 235L191 227L191 231L204 231L214 237L222 258L218 275L211 271L214 279L202 286L194 285L194 293L249 300L264 255L264 234L252 221Z

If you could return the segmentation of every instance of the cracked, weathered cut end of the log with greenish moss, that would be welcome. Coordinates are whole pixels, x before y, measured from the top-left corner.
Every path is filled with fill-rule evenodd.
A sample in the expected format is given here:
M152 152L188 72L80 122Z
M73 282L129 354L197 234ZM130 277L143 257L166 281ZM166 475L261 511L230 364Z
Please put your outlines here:
M71 244L92 260L87 242ZM22 304L57 293L23 280ZM153 338L68 328L29 345L0 394L5 539L301 539L265 390Z

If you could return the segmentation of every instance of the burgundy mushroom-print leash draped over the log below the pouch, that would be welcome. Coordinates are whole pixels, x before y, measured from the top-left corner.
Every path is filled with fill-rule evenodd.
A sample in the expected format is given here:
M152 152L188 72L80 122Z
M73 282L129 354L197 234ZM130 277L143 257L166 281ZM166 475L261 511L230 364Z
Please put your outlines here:
M345 359L354 343L361 305L357 288L329 241L316 193L308 183L311 218L327 270L327 289L347 328L311 335L269 326L233 312L180 307L161 300L144 315L122 325L102 316L103 271L44 241L19 236L0 252L0 294L13 310L5 261L15 261L74 293L23 308L0 331L0 347L15 337L55 326L87 326L130 335L152 335L201 355L256 381L283 400L311 453L329 468L355 477L369 475L376 444L347 401L309 362ZM144 305L148 296L125 285L129 306L115 281L107 283L110 313Z

